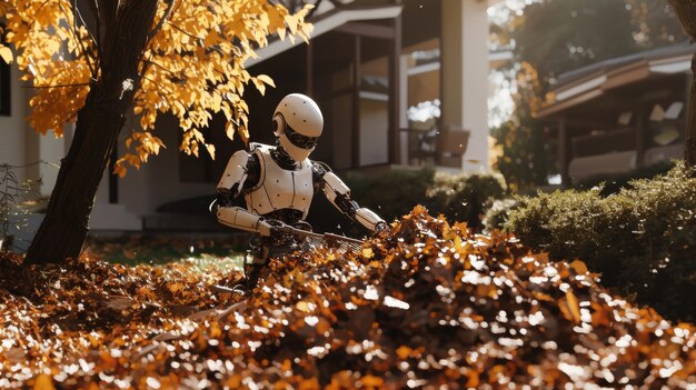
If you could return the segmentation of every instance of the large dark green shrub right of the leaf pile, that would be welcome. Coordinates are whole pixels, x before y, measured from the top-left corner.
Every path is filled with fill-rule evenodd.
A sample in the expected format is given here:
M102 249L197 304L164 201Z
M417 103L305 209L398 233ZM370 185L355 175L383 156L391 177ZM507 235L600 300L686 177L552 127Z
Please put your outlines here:
M672 319L696 320L696 179L678 162L618 193L519 198L506 229L553 259L583 259L603 282Z

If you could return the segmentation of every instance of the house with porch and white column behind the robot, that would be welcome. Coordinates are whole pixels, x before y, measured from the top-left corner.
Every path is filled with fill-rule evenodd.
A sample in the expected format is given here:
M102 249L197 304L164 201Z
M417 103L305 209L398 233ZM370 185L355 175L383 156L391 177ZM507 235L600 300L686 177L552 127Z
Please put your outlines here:
M300 3L282 2L288 8ZM487 169L488 1L306 2L316 6L309 43L274 40L247 63L252 74L269 74L277 84L265 97L253 88L245 96L251 141L272 142L276 103L287 93L304 92L318 102L326 122L312 158L339 172L420 164ZM70 143L69 129L62 139L33 136L23 121L30 90L19 84L14 69L10 73L12 111L0 117L0 161L58 163ZM90 228L210 227L202 203L186 203L192 204L186 218L167 210L178 201L213 194L227 158L243 147L215 131L223 124L221 118L212 122L206 137L217 147L215 161L179 153L176 122L162 118L157 132L169 149L123 179L105 174ZM137 126L129 118L127 127L131 123ZM48 194L57 171L39 163L20 176L42 177Z

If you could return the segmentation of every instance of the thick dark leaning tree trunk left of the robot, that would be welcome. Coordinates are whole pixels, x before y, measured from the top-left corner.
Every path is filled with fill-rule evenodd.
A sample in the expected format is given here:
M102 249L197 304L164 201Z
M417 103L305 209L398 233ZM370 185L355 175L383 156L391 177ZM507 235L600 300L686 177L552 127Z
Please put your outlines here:
M87 238L89 214L103 170L140 86L140 59L159 0L121 1L106 9L108 30L101 47L101 78L78 112L74 138L62 160L46 218L24 259L26 264L77 258ZM130 88L126 88L130 83Z

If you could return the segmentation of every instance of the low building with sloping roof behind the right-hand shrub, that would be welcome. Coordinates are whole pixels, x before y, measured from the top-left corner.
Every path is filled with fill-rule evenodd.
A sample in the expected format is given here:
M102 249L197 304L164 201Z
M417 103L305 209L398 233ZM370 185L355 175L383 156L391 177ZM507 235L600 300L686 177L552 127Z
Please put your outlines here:
M538 118L549 123L561 183L684 158L695 51L675 44L560 74Z

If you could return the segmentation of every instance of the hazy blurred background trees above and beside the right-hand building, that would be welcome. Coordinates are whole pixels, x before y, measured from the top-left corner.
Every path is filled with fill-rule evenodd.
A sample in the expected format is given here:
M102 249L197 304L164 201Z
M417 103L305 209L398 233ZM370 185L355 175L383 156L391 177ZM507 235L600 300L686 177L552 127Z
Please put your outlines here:
M558 74L673 42L685 41L674 10L652 0L539 0L491 29L491 39L511 47L507 70L516 92L509 121L493 130L503 149L497 166L514 190L546 183L554 151L535 119Z

